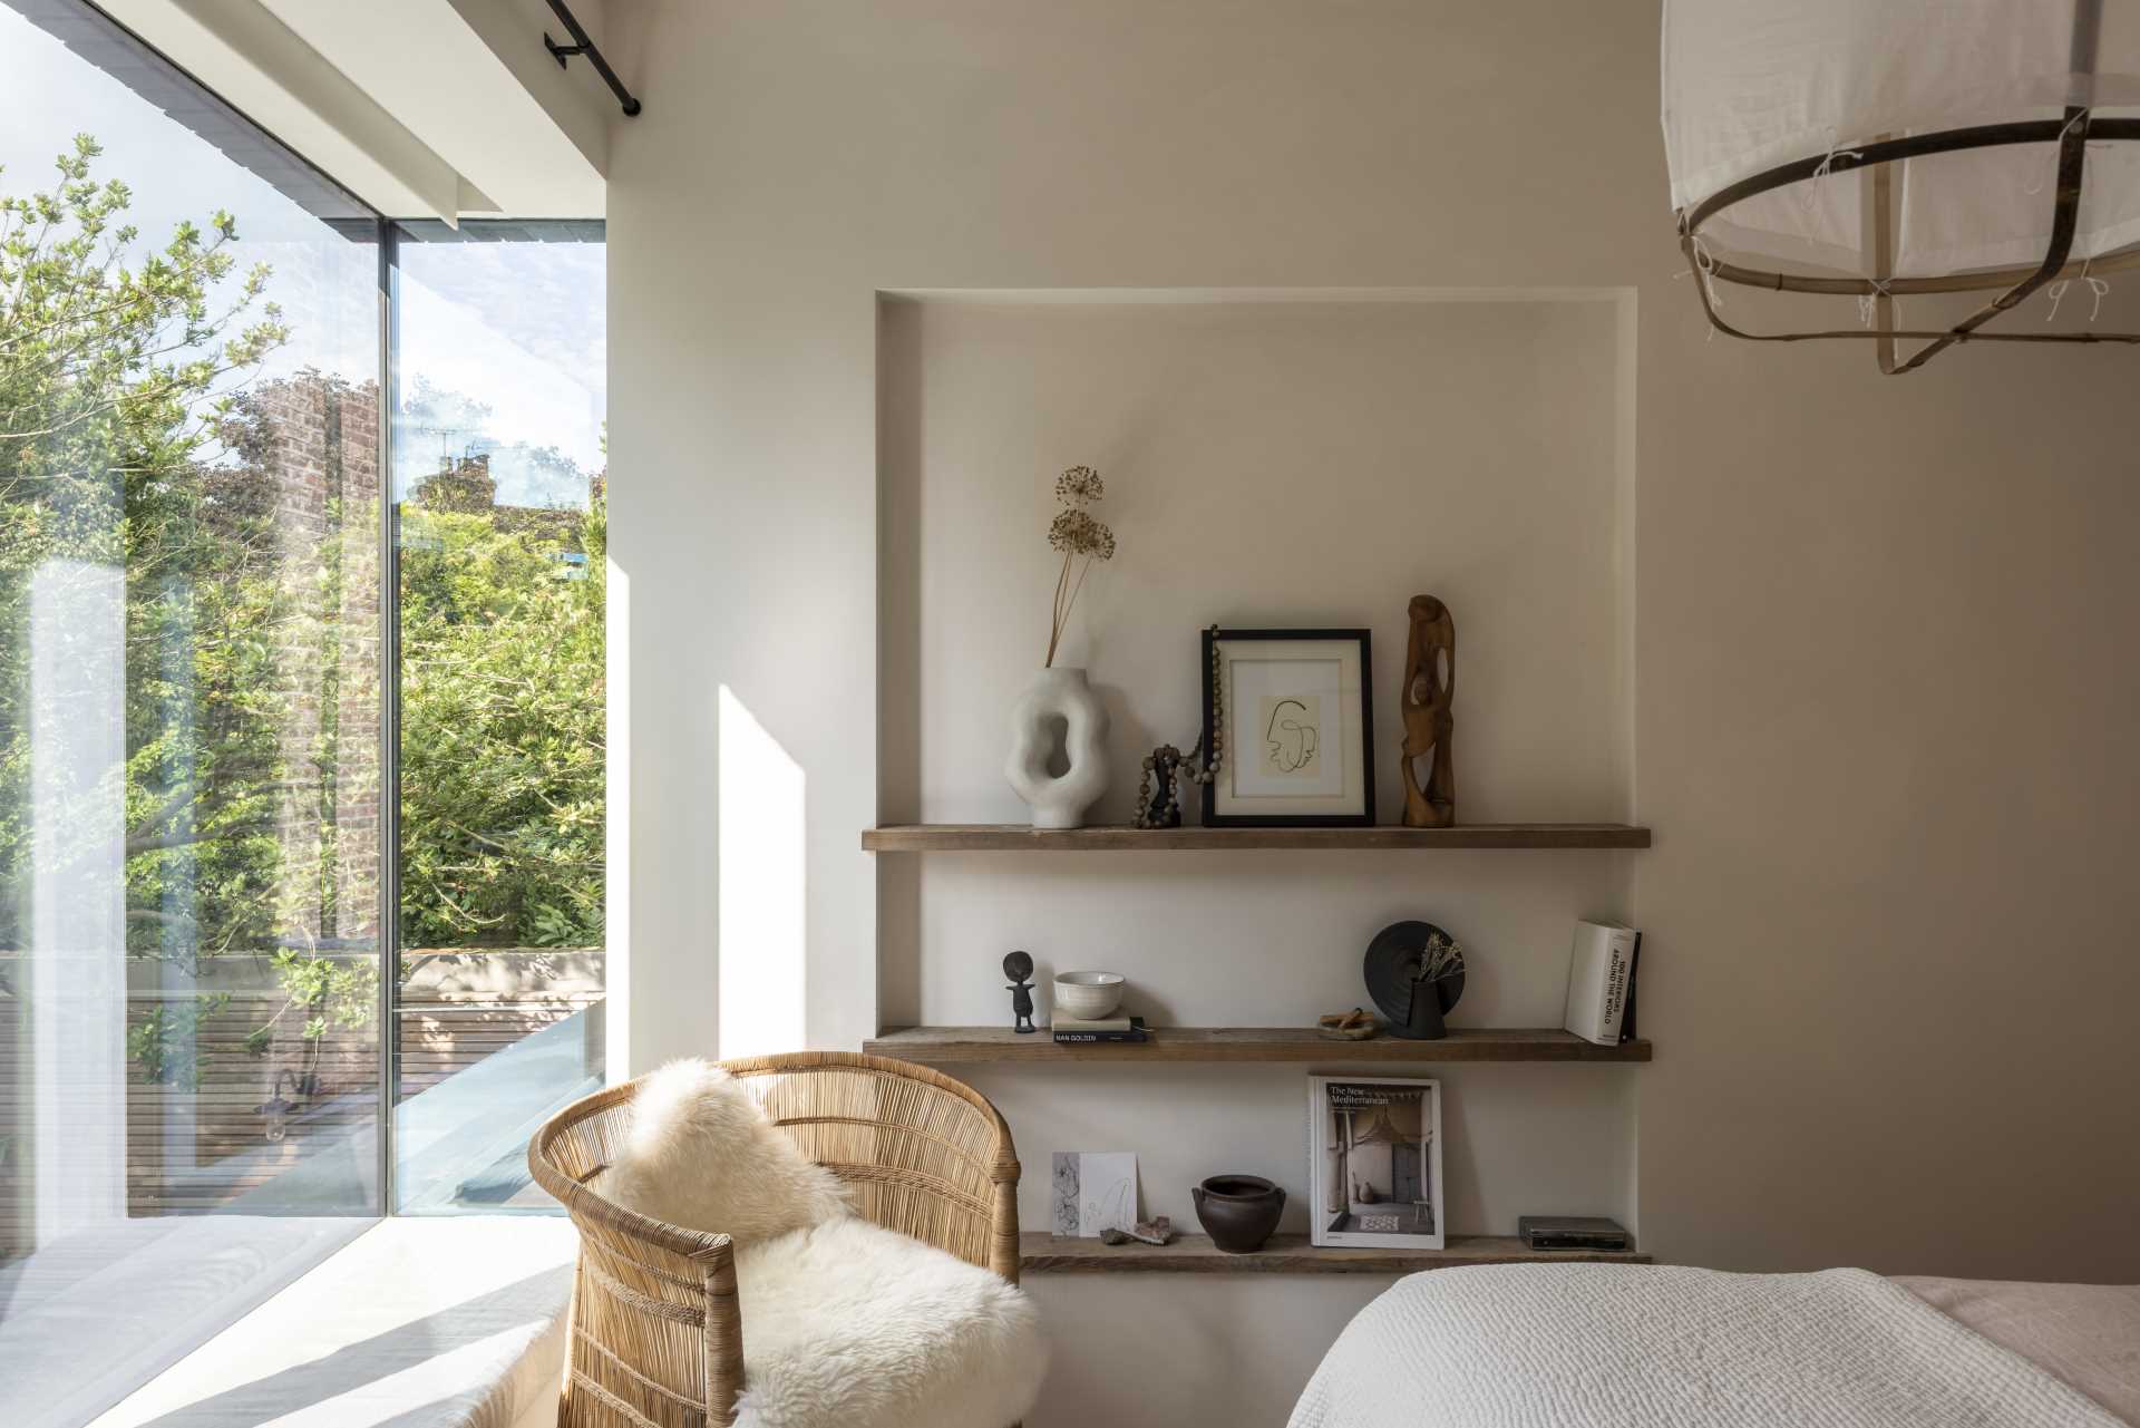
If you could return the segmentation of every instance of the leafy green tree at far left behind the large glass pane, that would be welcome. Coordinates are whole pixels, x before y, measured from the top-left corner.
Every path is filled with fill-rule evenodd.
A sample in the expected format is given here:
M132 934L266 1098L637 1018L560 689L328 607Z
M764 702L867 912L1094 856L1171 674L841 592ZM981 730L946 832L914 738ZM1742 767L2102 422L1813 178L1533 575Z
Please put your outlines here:
M24 946L36 692L30 591L124 572L128 951L190 959L274 925L282 784L265 632L289 614L272 510L203 467L231 377L287 340L268 268L233 274L227 212L133 265L128 191L88 135L49 193L0 193L0 946ZM257 313L255 313L257 308ZM81 801L109 790L66 790ZM98 820L68 820L94 837ZM86 852L86 850L83 850Z

